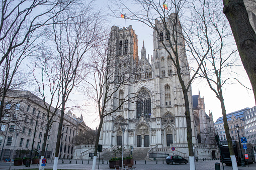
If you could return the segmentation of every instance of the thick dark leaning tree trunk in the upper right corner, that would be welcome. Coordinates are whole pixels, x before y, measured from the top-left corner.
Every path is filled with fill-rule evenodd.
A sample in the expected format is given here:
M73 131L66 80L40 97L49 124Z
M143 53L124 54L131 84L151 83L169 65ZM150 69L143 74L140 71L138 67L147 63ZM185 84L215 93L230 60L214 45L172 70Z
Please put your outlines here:
M223 0L223 13L230 24L235 43L249 77L256 101L256 34L242 0Z

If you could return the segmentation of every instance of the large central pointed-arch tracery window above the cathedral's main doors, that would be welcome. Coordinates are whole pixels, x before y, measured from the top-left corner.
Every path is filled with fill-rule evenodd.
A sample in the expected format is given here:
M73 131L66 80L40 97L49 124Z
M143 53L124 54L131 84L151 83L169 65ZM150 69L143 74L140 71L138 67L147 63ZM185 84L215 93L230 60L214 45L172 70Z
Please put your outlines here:
M142 114L145 118L150 118L151 116L151 98L149 93L144 89L140 91L137 96L136 113L137 118L139 118Z

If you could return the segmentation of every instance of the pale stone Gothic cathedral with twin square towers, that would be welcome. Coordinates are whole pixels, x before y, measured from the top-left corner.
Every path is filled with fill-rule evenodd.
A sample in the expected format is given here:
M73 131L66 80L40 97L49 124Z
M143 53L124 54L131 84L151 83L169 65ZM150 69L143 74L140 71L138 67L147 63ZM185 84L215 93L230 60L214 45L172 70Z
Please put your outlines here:
M115 99L108 102L107 107L114 109L124 101L125 97L130 100L125 101L114 114L104 118L100 144L103 144L104 148L121 145L123 133L120 123L127 123L124 132L125 148L176 146L181 153L188 156L183 91L176 68L161 43L168 41L162 23L157 20L155 23L160 30L160 36L156 31L153 32L153 56L147 56L143 42L140 59L137 35L132 26L122 29L116 26L111 28L109 48L113 53L110 54L110 58L114 58L114 62L118 63L115 66L118 81L125 83L115 92ZM169 23L170 32L171 25ZM179 48L179 61L186 84L190 80L189 66L183 35L179 37L180 45L177 48ZM214 128L212 114L210 113L209 117L205 113L204 99L201 98L200 93L192 96L190 89L188 95L190 107L193 107L190 112L193 144L210 144L214 137L214 134L209 135L209 129L211 131L211 128ZM214 129L212 131L214 132ZM211 151L209 147L209 154Z

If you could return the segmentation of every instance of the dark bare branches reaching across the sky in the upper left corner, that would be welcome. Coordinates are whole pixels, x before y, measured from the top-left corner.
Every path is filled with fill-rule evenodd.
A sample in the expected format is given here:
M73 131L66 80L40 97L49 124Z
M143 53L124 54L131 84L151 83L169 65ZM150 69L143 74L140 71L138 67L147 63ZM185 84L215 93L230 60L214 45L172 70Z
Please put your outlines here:
M2 42L0 65L16 48L21 48L28 41L34 41L33 33L43 26L52 24L51 19L60 15L72 2L3 0L0 23L0 40Z

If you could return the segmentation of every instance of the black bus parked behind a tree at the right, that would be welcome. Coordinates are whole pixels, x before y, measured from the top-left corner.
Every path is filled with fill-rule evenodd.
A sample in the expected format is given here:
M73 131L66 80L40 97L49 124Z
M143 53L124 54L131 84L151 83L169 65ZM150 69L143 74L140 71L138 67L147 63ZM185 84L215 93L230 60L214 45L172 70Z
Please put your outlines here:
M236 140L232 140L232 145L234 148L237 165L240 166L241 154L240 154L239 142ZM253 147L250 143L247 144L247 149L246 149L246 153L248 154L248 159L244 158L245 150L243 149L242 145L241 145L241 150L242 150L243 159L245 160L244 164L246 164L246 161L248 161L248 163L253 163L255 161ZM232 165L227 140L220 140L220 153L221 153L220 162L223 162L226 165Z

